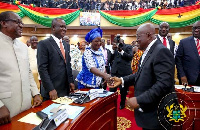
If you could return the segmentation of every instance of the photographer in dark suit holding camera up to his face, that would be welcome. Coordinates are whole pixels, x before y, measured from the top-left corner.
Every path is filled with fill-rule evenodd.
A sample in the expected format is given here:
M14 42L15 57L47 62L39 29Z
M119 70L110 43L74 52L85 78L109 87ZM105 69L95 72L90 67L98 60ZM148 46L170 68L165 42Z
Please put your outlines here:
M132 46L125 44L124 40L120 36L116 36L113 40L112 54L110 58L111 66L111 76L127 76L132 74L131 61L133 59ZM121 88L121 102L120 109L125 107L125 100L127 95L127 89L129 86ZM111 92L115 92L117 88L110 88Z

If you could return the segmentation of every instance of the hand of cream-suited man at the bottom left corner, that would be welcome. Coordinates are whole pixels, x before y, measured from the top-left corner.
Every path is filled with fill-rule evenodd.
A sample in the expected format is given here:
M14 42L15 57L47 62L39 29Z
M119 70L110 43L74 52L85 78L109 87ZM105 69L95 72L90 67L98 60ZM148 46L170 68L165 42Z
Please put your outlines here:
M7 124L11 122L10 111L6 106L0 108L0 125Z

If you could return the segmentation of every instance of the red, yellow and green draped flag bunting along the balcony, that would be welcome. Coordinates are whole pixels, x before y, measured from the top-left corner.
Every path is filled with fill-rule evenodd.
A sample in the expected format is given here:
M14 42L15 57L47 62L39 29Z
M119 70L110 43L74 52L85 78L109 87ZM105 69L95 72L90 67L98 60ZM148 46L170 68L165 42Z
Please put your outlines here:
M0 2L0 12L13 11L19 14L21 18L29 17L34 22L43 26L50 27L52 19L56 17L63 18L66 24L73 22L79 15L79 9L59 9L33 7L33 5L21 5L20 2L14 2L16 5ZM200 20L200 3L196 5L172 8L172 9L138 9L138 10L112 10L99 11L102 17L118 26L133 27L144 22L151 21L155 24L168 22L170 28L181 28L193 24Z

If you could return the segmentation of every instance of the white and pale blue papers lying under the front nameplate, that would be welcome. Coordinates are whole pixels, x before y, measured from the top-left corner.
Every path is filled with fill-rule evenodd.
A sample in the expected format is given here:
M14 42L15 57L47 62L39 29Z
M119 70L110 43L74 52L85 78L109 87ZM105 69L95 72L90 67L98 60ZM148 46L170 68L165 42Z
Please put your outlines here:
M50 117L51 115L53 115L53 113L51 113L50 111L53 108L58 108L58 107L60 109L66 109L68 117L70 119L76 118L83 111L83 109L85 108L85 107L80 107L80 106L61 105L61 104L53 103L53 104L49 105L48 107L46 107L45 109L43 109L42 112L46 113Z

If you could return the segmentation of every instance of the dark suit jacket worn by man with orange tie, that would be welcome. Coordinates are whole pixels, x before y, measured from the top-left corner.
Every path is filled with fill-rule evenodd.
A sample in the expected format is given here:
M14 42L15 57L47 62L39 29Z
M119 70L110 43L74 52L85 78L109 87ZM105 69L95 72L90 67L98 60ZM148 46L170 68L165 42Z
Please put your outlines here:
M52 37L42 40L37 47L38 71L42 80L41 95L49 98L49 91L55 89L59 97L69 93L73 83L70 45L64 42L66 63L57 43Z

